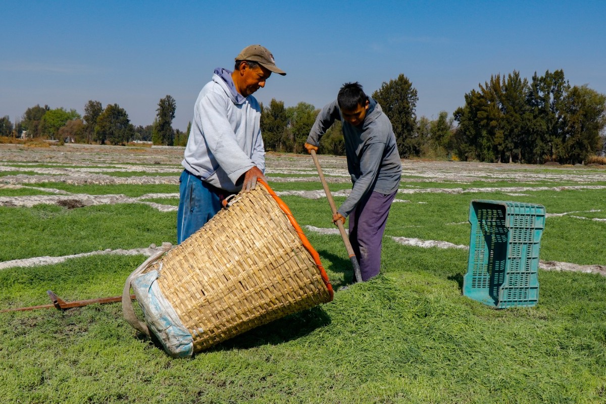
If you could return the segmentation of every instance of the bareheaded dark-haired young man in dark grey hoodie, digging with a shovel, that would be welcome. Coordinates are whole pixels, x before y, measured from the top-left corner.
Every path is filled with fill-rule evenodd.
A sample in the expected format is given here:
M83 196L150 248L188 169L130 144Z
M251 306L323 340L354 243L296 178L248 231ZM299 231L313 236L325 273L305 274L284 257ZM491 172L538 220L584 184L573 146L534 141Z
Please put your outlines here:
M349 239L360 263L362 280L379 274L387 216L400 184L402 162L391 122L381 105L357 82L346 83L337 99L325 105L311 128L305 149L318 150L330 126L342 124L347 170L353 188L333 215L333 223L349 216Z

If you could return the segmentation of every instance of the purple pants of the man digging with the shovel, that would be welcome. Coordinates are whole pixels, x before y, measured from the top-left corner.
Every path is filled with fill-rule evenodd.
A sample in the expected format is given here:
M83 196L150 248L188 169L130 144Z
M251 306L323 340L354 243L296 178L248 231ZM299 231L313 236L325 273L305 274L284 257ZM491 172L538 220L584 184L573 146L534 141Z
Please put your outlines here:
M349 240L360 263L362 280L377 276L381 269L383 233L396 193L371 192L349 215Z

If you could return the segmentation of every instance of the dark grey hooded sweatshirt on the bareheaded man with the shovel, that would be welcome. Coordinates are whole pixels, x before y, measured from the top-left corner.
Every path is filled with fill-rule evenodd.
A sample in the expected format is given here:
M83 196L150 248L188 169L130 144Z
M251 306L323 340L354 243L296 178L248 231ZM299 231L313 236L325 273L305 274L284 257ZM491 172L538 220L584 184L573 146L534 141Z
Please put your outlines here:
M359 127L342 118L336 100L325 105L311 128L307 143L318 146L321 137L336 119L342 124L347 170L353 182L351 193L337 210L347 217L369 192L387 195L398 190L402 161L391 122L374 99L370 99L366 117Z

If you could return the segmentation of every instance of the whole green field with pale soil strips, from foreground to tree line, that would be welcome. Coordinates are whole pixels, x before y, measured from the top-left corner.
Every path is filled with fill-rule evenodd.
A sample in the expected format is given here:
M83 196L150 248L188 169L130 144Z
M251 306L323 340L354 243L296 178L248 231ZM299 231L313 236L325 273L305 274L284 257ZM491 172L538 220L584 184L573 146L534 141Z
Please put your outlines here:
M345 159L319 157L339 204ZM120 295L147 258L138 251L176 243L181 159L182 148L0 145L0 310L46 305L47 290ZM370 282L192 359L171 359L119 303L0 313L0 402L606 402L606 170L402 168ZM351 263L312 170L309 156L267 156L269 185L338 290ZM536 306L462 296L473 199L544 205Z

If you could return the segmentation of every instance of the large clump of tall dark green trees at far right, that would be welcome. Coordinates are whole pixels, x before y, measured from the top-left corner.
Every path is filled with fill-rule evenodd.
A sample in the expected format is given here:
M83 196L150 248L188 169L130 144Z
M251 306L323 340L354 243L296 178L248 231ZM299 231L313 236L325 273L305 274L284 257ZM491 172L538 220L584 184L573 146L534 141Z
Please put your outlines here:
M454 111L451 147L465 160L582 164L604 152L605 108L604 94L571 86L562 70L530 83L518 71L491 76Z

